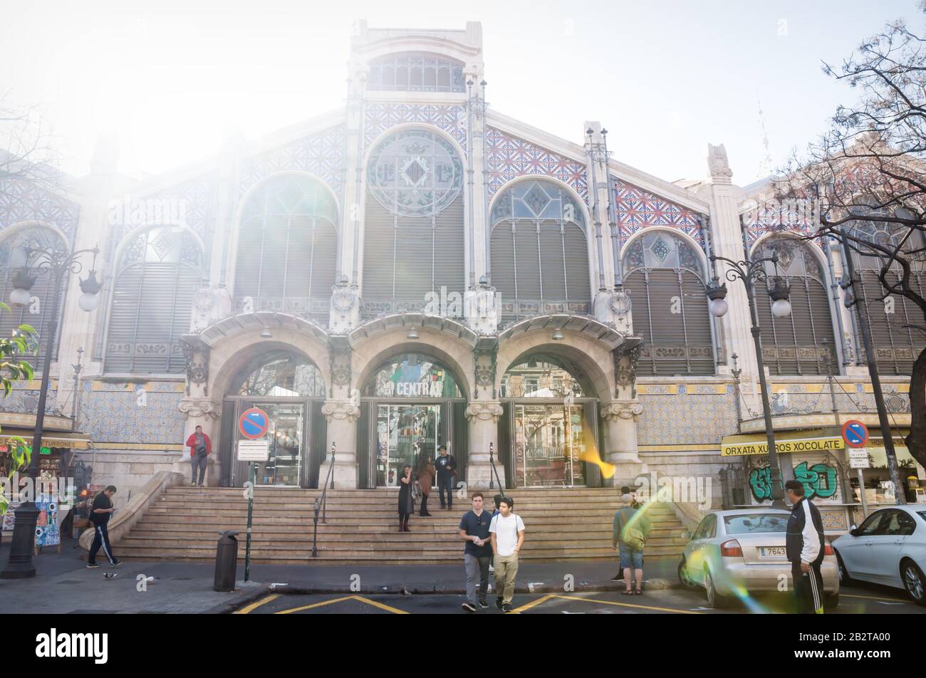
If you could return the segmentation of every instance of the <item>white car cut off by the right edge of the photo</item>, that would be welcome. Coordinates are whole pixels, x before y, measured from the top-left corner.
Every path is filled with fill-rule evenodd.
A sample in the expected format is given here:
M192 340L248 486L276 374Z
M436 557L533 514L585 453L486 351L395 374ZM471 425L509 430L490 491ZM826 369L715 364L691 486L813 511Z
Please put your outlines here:
M880 508L832 542L843 584L852 579L907 590L926 605L926 506Z

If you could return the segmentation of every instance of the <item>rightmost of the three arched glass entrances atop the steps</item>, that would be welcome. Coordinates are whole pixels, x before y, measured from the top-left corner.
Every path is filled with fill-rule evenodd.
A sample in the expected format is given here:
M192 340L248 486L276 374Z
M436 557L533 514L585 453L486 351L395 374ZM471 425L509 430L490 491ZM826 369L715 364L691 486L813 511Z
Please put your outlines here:
M508 487L597 486L586 455L597 454L594 387L567 358L532 352L516 359L501 381L499 458Z

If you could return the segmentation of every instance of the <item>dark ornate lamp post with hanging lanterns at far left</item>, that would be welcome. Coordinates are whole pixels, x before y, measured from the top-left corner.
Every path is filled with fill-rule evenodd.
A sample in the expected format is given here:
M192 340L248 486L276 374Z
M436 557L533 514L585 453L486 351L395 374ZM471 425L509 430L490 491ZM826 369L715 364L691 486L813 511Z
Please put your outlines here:
M81 295L79 305L82 310L90 312L96 308L99 303L99 292L103 285L96 280L96 256L100 253L96 247L92 249L81 249L69 252L62 245L41 245L37 241L27 243L23 249L26 253L26 264L30 261L34 263L31 266L31 272L36 275L31 276L29 269L21 270L15 283L18 286L9 295L10 301L14 304L21 305L23 300L29 302L29 291L35 283L38 275L48 275L51 279L51 315L48 320L48 332L46 334L45 355L42 365L42 385L39 391L39 405L35 413L35 433L32 435L32 451L29 464L29 479L32 487L31 501L25 502L16 509L16 521L13 525L13 539L10 544L9 561L6 563L6 569L0 571L0 579L28 579L35 576L35 566L32 565L32 550L35 545L35 522L39 517L38 508L35 506L35 479L39 471L39 451L42 449L42 434L44 433L45 420L45 399L48 395L48 383L51 378L52 351L55 346L55 336L57 333L57 312L59 306L59 297L61 294L61 283L65 275L73 273L78 275L83 270L81 264L81 255L87 252L94 254L94 264L87 274L86 280L81 280Z

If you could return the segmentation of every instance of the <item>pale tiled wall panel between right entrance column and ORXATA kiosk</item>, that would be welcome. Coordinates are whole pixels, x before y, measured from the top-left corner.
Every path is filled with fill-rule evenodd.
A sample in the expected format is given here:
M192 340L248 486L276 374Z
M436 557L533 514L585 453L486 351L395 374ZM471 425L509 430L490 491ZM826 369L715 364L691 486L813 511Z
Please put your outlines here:
M639 398L643 414L637 422L638 445L717 445L724 435L736 433L732 395Z

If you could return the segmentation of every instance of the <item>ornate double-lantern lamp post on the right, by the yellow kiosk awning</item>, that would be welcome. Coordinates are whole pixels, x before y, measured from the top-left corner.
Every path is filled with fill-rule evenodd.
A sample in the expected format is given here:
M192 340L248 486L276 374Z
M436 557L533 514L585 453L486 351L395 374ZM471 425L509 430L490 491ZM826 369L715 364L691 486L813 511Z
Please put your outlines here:
M710 256L711 262L726 261L730 266L726 272L726 278L731 283L735 280L743 281L746 288L746 298L749 300L749 313L752 319L751 332L753 341L756 344L756 361L758 365L758 379L762 393L762 413L765 416L765 434L769 446L769 468L771 473L771 508L785 508L784 488L782 486L782 471L778 463L778 455L775 453L775 433L771 423L771 408L769 405L769 389L765 378L765 363L762 360L762 337L758 325L758 310L756 301L753 298L754 284L756 281L765 280L767 275L765 263L770 261L778 270L778 253L775 252L771 257L756 258L753 261L733 261L727 257ZM769 290L771 297L771 312L779 318L784 318L791 314L791 302L788 300L789 288L784 279L775 275L772 287ZM720 284L717 276L707 285L707 298L710 303L707 309L710 314L716 318L726 315L729 309L727 302L727 285Z

